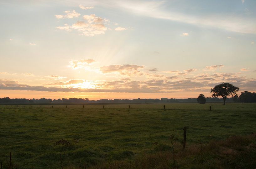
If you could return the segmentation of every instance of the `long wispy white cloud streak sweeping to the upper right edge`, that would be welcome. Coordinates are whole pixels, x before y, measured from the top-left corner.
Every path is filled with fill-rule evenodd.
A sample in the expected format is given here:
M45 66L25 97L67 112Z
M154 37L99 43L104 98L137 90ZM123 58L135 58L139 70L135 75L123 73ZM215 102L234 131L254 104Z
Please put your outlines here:
M219 28L227 31L256 34L256 22L254 18L242 17L240 15L230 14L223 17L222 14L186 14L175 12L175 10L165 10L170 6L170 1L117 1L115 7L122 7L128 12L146 17L170 20L175 22L184 22L198 27Z

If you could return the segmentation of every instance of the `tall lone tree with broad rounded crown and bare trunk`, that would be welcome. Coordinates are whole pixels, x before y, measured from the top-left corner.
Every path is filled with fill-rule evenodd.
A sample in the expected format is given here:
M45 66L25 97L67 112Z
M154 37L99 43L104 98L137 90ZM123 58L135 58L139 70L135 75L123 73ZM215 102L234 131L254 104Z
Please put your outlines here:
M214 86L213 89L211 89L212 97L218 97L222 96L223 98L223 105L226 105L226 99L227 96L234 96L238 92L239 88L236 86L233 86L230 83L221 83L219 85Z

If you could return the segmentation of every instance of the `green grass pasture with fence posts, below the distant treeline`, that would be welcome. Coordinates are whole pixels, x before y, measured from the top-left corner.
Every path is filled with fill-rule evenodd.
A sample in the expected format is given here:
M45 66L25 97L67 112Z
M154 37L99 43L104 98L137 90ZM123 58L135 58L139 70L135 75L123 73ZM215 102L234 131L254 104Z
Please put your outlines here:
M21 105L19 105L21 106ZM72 142L65 166L132 161L171 148L170 134L187 146L256 132L256 104L0 105L0 160L18 168L60 168L54 143ZM63 106L63 107L61 107ZM209 111L212 106L212 111ZM77 140L75 140L77 139ZM158 142L158 144L154 144Z

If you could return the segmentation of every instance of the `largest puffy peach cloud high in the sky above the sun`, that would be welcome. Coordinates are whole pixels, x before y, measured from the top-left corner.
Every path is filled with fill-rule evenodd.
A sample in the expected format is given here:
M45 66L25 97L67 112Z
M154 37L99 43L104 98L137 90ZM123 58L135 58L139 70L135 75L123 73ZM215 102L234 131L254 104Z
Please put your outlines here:
M65 24L63 27L56 27L56 29L65 31L77 30L79 35L84 36L101 35L107 31L107 27L104 25L105 22L108 22L107 19L96 17L95 14L84 15L83 18L85 21L77 21L71 26Z

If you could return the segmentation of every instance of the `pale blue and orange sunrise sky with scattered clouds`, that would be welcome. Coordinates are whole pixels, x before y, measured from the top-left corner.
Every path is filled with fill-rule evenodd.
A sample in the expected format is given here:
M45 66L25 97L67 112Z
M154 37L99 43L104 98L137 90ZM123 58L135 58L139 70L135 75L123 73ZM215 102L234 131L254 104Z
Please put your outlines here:
M256 91L256 1L0 0L0 97Z

